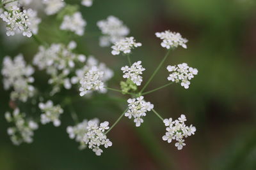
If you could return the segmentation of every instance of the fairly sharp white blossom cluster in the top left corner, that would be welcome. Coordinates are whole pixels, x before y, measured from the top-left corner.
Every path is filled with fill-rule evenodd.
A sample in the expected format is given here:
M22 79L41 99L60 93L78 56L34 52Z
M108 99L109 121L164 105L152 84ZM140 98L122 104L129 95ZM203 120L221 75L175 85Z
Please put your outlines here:
M32 32L29 27L31 22L29 21L28 13L31 13L30 10L21 11L17 6L12 6L9 11L4 11L0 15L0 18L6 22L6 35L14 36L15 32L22 32L23 36L31 37ZM34 23L35 25L35 23Z

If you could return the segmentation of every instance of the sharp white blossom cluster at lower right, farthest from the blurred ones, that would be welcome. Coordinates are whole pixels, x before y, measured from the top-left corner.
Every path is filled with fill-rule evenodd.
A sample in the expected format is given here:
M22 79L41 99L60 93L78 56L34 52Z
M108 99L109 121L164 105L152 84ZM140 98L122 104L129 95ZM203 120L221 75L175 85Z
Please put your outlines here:
M175 146L178 148L178 150L181 150L183 146L186 146L184 143L184 138L188 138L188 136L191 136L192 134L195 134L196 128L193 125L190 125L189 127L184 123L187 119L185 115L180 115L180 117L177 120L172 121L172 118L164 119L164 125L166 127L166 133L163 136L164 141L168 141L168 143L171 143L173 139L177 141L175 143Z

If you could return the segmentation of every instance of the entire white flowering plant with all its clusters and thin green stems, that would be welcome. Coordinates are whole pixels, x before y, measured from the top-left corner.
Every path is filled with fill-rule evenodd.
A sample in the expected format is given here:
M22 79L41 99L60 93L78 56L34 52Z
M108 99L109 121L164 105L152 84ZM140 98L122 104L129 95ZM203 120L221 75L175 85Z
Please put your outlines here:
M109 16L106 20L97 22L97 26L102 32L99 45L111 46L109 53L112 55L127 57L126 66L120 67L120 72L124 73L125 81L120 81L120 89L114 89L108 87L108 81L114 75L111 68L99 62L92 55L86 56L77 53L76 41L49 44L37 36L39 24L44 21L37 17L35 10L26 10L29 3L31 1L13 0L3 0L0 3L2 10L0 18L6 25L7 36L15 36L21 32L23 36L33 38L38 43L38 52L35 53L31 64L26 63L22 54L17 55L14 59L6 56L3 60L1 73L4 89L11 90L10 99L14 103L12 106L13 115L6 112L5 117L8 122L15 124L15 127L8 129L8 134L15 145L20 145L22 142L31 143L39 123L45 125L52 122L55 127L63 125L61 124L61 115L68 113L75 123L73 126L67 126L68 136L80 143L80 149L88 147L96 155L102 154L103 147L108 148L113 145L107 134L122 117L132 118L135 126L140 127L143 125L143 118L150 113L154 113L161 120L161 124L166 126L164 141L171 143L172 140L176 140L175 146L178 150L186 145L184 139L195 134L196 131L193 125L184 124L186 116L181 115L177 120L164 119L156 111L154 104L148 102L145 97L145 95L168 87L174 82L180 83L184 89L189 89L190 81L198 74L198 70L189 67L186 63L177 66L166 64L166 59L173 50L179 46L187 48L188 40L186 38L182 38L181 34L177 32L156 32L156 37L162 40L161 46L166 48L167 52L161 62L157 64L150 78L145 81L142 75L146 69L142 66L142 62L140 60L133 62L130 57L132 50L139 48L142 43L136 42L133 36L128 36L130 30L119 18ZM85 32L87 22L79 11L78 4L67 4L62 0L42 0L41 3L45 6L45 15L55 15L56 20L61 20L60 31L67 31L68 34L76 36L90 34L90 32ZM81 5L86 7L90 7L92 4L92 0L81 1ZM170 72L170 75L166 77L170 83L146 91L164 64ZM48 87L51 89L49 95L45 95L45 92L36 87L34 83L36 77L33 77L35 70L44 71L49 76L47 81ZM83 122L79 122L77 113L72 106L73 99L63 98L58 100L59 103L53 103L51 98L57 96L62 89L72 90L71 92L75 93L77 97L85 96L82 99L87 100L90 100L90 96L93 96L95 92L107 93L111 90L120 92L125 98L129 97L127 97L126 109L112 125L109 124L112 121L100 123L98 118L91 120L84 118ZM60 102L60 100L62 101ZM28 103L36 107L36 111L40 113L39 117L35 118L36 115L29 117L29 114L23 113L22 106Z

